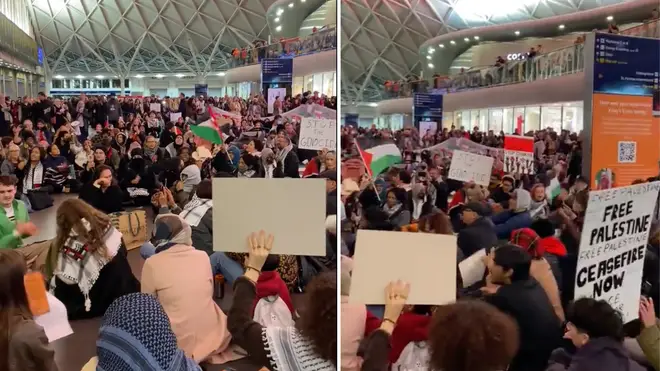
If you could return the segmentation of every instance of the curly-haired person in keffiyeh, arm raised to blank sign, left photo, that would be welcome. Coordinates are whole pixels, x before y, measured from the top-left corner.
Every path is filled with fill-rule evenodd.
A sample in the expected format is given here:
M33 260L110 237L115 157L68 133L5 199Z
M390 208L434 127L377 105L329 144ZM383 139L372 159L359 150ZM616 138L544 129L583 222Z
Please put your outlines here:
M309 284L305 310L295 327L263 327L252 319L256 283L272 248L272 235L261 231L248 237L249 268L234 284L234 303L227 320L232 341L251 359L274 370L336 370L336 272L322 273Z

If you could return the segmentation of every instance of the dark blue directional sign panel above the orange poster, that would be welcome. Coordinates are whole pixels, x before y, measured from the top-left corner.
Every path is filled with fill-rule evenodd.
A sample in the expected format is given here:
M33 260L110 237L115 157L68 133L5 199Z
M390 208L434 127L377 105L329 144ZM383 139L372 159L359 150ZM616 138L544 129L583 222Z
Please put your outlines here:
M595 48L594 93L657 95L660 40L597 33Z

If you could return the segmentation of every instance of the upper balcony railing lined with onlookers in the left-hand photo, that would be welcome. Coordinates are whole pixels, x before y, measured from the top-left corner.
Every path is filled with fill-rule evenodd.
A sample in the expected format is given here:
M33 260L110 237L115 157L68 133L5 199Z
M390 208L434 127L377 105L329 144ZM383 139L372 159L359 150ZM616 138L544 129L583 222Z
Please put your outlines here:
M321 29L304 38L284 39L256 48L235 49L232 53L231 66L249 66L258 64L264 58L291 58L336 48L337 28L333 26Z

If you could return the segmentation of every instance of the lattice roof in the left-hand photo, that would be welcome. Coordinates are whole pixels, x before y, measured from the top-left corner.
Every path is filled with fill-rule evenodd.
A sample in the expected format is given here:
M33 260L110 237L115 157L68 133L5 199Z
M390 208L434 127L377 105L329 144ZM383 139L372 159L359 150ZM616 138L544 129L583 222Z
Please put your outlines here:
M228 68L231 50L270 33L275 0L27 0L37 43L57 73Z

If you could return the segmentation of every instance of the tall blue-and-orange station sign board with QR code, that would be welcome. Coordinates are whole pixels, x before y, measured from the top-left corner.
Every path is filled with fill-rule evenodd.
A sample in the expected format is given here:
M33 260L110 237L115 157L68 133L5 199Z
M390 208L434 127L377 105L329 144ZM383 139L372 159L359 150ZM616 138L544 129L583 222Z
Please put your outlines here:
M658 175L660 40L597 33L594 43L591 187Z

